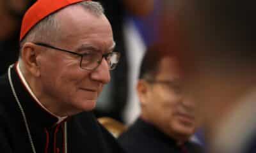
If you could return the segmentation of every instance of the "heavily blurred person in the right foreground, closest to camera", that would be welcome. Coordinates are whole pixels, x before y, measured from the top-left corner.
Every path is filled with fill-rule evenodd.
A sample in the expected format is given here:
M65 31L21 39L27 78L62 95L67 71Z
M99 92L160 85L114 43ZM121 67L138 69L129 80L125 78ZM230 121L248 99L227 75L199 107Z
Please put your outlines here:
M174 26L182 29L182 45L177 55L186 94L197 102L196 114L204 117L209 151L256 152L254 1L178 3ZM163 35L168 41L173 34Z

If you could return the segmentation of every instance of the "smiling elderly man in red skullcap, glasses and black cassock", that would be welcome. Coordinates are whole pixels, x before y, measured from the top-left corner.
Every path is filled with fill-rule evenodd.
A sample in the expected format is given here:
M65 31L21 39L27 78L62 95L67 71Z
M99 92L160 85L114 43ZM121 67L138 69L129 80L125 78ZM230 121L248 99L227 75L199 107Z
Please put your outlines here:
M122 152L91 112L118 62L114 47L99 3L31 6L19 61L0 78L1 152Z

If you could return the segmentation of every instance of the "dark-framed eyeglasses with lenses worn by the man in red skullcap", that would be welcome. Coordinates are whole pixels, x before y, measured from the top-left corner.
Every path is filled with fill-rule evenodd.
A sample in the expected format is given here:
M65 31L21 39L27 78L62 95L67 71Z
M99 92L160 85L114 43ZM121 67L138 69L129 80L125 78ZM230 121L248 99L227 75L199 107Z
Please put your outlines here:
M109 70L115 69L118 61L120 59L119 52L108 52L106 54L100 54L99 52L88 52L84 54L79 54L76 52L72 52L69 50L64 50L61 48L53 47L51 45L47 45L45 43L34 43L35 45L52 48L54 50L60 50L63 52L68 52L70 54L78 55L81 57L80 67L86 70L94 70L97 69L102 62L102 59L105 58L108 62Z

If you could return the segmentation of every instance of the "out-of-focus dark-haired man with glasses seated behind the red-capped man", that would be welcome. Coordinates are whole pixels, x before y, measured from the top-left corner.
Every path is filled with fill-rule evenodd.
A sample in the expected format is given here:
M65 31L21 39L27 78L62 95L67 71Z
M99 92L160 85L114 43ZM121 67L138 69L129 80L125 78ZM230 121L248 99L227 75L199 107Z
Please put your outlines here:
M147 50L137 92L141 115L118 141L127 152L200 152L189 142L195 131L194 104L182 96L179 66L159 46Z

